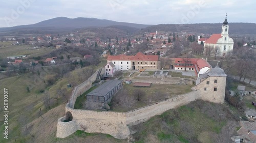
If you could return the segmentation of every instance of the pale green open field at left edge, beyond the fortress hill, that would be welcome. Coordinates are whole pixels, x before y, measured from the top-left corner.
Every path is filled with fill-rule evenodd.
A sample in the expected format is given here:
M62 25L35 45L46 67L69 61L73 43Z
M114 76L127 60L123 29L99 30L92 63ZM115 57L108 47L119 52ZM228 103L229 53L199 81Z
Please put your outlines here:
M53 51L53 48L28 49L33 45L11 45L11 42L0 42L0 59L13 55L41 56Z

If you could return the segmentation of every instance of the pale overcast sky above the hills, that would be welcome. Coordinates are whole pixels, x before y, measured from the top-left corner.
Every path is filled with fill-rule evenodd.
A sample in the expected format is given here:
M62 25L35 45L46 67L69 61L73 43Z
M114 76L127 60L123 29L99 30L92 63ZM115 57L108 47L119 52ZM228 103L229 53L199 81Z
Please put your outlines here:
M0 27L55 17L93 17L141 24L256 23L252 0L8 0L0 5Z

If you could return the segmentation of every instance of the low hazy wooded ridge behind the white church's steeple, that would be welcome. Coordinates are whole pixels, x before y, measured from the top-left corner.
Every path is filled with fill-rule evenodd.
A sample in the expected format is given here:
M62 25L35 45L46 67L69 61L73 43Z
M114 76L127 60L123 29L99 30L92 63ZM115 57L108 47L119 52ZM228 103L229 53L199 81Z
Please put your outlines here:
M256 23L228 23L230 35L256 34ZM186 32L186 33L221 33L222 23L197 23L197 24L159 24L141 30L144 32Z

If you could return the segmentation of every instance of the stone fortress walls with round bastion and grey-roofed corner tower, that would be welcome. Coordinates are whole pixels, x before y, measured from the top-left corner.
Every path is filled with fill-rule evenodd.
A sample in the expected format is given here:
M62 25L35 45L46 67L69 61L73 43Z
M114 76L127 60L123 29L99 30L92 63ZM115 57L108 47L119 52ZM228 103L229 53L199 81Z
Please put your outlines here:
M214 103L224 103L226 74L218 65L209 72L200 75L192 92L177 95L173 98L147 105L128 112L93 111L74 109L76 98L92 87L98 74L104 70L97 70L87 81L78 85L72 92L72 97L66 105L66 112L70 111L73 120L63 122L64 117L58 119L57 137L65 138L77 130L88 133L110 134L118 139L125 139L131 134L130 126L145 122L166 110L186 105L191 101L204 100Z

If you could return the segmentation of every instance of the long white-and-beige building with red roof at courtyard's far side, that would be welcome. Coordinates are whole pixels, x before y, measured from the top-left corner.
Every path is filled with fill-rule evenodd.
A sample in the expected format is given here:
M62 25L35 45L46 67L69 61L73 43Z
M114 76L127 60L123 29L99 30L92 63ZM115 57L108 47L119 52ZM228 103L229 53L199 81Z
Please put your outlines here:
M116 70L158 69L158 55L145 55L142 52L136 55L109 55L107 61L112 62Z

